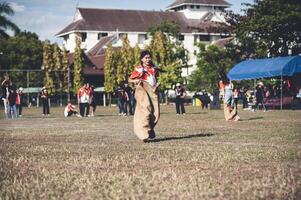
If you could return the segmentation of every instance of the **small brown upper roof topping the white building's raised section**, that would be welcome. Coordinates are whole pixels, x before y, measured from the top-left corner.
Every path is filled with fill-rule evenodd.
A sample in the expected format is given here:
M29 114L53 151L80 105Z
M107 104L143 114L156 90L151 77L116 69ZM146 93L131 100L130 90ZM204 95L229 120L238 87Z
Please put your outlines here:
M168 9L175 8L181 5L214 5L214 6L223 6L228 7L229 4L227 1L224 0L176 0L174 3L167 6Z

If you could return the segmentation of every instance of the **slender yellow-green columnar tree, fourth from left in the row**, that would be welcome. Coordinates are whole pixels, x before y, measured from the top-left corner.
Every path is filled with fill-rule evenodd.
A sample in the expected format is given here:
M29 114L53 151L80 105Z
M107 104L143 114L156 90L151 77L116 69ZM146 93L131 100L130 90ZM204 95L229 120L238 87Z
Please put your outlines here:
M105 82L104 88L108 93L114 92L117 82L115 78L115 60L112 45L109 45L106 50L106 59L104 64Z

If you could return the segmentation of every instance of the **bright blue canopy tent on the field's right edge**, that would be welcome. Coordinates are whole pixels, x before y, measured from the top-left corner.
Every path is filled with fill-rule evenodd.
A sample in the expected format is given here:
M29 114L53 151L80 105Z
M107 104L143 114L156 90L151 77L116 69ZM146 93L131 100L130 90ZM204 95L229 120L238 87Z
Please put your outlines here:
M301 56L286 56L246 60L235 65L227 74L230 80L293 76L301 72ZM282 93L282 85L281 85ZM281 94L282 109L282 94Z

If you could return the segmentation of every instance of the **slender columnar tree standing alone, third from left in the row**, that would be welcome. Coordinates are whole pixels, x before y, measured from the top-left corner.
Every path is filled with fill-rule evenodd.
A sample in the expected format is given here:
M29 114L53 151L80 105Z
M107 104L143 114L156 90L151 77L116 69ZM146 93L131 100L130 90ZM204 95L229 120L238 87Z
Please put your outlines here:
M73 80L73 91L76 94L80 87L84 83L84 55L83 50L80 47L80 38L76 38L76 47L74 51L74 80Z

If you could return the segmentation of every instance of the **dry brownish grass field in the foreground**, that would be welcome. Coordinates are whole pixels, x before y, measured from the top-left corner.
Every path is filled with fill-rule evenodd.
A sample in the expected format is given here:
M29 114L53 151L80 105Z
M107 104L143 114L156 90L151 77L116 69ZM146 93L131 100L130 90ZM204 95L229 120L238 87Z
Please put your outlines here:
M93 118L25 108L0 128L0 199L301 199L301 111L162 106L157 139L142 143L132 117Z

